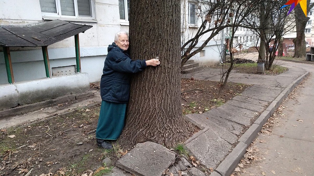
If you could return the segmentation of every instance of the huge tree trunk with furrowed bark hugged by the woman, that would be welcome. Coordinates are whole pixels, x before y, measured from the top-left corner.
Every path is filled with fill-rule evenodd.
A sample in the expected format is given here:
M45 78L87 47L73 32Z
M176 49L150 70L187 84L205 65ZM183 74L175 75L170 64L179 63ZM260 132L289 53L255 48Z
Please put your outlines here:
M172 147L190 128L181 110L180 0L130 0L130 55L161 64L134 75L122 147L152 141Z

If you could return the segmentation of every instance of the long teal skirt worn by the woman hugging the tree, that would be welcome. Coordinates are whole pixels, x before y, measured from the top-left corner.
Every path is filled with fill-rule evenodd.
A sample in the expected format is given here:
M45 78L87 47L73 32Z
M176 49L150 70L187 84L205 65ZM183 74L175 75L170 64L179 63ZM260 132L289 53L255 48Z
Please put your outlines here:
M116 140L124 127L127 104L102 101L96 129L97 139Z

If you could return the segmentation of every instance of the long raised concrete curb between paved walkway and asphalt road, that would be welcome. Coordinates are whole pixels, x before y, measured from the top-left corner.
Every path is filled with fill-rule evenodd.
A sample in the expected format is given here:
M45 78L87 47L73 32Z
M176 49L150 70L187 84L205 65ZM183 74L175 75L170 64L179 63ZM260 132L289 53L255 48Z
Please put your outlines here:
M309 72L301 75L295 81L288 85L279 96L268 106L268 108L257 118L257 120L249 127L246 132L239 138L239 143L232 150L232 152L219 164L216 168L216 172L221 176L230 176L234 171L237 164L240 162L241 158L245 154L247 147L256 138L257 133L262 129L263 125L266 123L268 118L273 114L273 112L279 107L279 105L284 101L284 99L293 91L293 89L300 84L304 78L309 75Z

